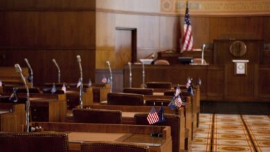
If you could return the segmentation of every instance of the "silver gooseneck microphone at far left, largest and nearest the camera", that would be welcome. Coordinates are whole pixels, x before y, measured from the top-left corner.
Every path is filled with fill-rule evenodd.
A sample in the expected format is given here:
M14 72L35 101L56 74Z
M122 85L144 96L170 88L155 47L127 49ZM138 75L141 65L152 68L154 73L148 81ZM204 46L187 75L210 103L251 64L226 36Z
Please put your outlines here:
M29 110L30 110L30 101L29 101L29 88L26 84L26 79L24 79L24 75L22 74L21 66L19 64L15 64L15 68L17 73L21 76L21 80L24 82L24 86L26 88L26 132L29 132Z

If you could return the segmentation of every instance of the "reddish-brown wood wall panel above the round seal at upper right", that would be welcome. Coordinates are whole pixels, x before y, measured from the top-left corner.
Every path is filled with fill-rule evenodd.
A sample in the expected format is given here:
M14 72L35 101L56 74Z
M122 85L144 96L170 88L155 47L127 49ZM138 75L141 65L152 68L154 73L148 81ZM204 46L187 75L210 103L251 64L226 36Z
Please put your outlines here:
M262 39L262 17L210 17L210 42L214 39Z

